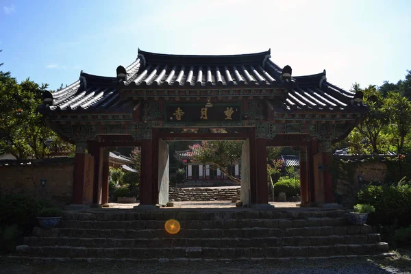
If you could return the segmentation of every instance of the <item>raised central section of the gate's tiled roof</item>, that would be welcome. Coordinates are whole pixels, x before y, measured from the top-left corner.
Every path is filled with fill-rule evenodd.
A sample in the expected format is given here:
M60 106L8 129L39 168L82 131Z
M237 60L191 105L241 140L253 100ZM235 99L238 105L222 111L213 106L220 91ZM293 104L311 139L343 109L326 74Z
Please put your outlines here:
M270 51L242 55L166 55L138 51L133 67L140 69L127 72L123 84L197 87L281 84L277 71L271 66L264 69L269 56Z

